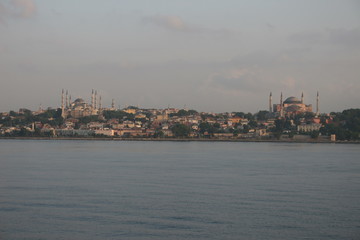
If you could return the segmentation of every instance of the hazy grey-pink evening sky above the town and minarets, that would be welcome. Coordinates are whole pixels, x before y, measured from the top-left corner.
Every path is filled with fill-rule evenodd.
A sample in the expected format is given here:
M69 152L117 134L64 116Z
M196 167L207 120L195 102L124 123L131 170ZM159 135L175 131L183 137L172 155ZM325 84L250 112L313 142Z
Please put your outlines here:
M102 106L360 107L360 1L0 0L0 112Z

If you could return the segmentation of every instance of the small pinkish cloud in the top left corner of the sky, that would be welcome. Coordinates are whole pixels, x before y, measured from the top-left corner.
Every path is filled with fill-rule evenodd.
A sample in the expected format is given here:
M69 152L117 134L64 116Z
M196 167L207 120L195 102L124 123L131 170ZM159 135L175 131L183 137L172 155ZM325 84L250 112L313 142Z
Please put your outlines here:
M30 18L36 14L33 0L5 0L0 3L0 22L10 18Z

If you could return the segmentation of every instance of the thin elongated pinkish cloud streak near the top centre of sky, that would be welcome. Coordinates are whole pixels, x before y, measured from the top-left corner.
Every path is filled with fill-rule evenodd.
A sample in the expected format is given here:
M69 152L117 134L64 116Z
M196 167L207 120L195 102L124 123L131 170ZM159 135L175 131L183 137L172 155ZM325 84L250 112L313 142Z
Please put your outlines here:
M153 24L168 30L188 33L217 33L230 34L232 31L228 29L210 29L195 24L185 22L179 16L172 15L154 15L142 18L143 23Z

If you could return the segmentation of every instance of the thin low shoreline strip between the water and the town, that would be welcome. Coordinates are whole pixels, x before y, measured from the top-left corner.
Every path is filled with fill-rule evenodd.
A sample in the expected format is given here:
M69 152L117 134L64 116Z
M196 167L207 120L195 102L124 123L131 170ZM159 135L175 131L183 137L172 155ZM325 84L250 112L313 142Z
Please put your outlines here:
M141 141L141 142L273 142L273 143L337 143L360 144L360 141L324 141L293 139L205 139L205 138L119 138L119 137L0 137L2 140L73 140L73 141Z

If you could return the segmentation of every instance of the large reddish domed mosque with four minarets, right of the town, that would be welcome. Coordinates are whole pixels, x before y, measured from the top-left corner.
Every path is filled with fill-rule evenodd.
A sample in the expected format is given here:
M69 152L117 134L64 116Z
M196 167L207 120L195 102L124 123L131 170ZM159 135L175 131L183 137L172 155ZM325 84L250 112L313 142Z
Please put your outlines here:
M296 97L288 97L283 101L283 95L280 95L280 104L272 105L272 93L269 96L269 112L275 116L285 117L294 116L300 113L313 112L311 104L304 103L304 93L301 94L301 100ZM316 95L316 115L319 115L319 92Z

